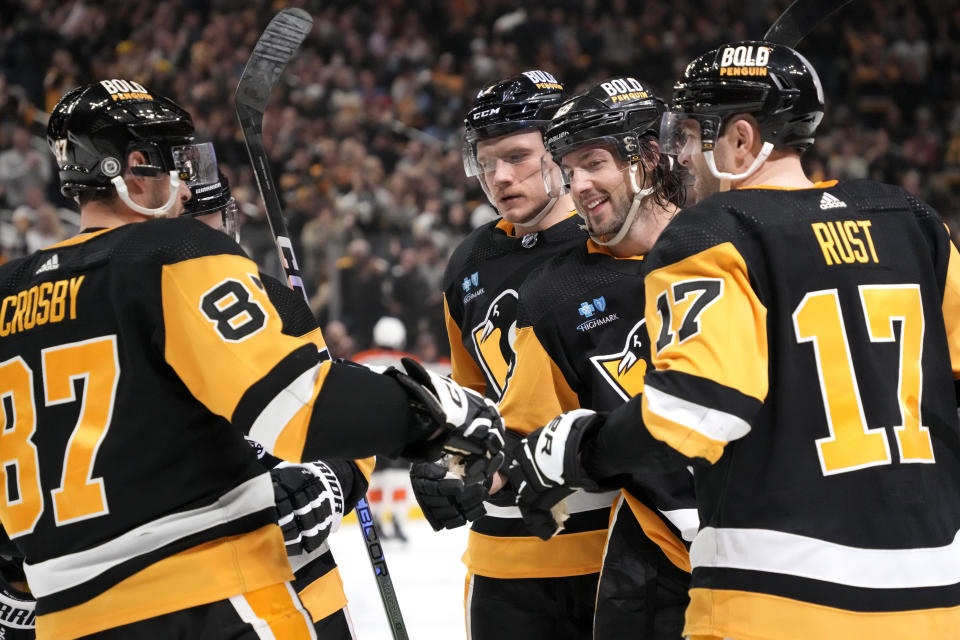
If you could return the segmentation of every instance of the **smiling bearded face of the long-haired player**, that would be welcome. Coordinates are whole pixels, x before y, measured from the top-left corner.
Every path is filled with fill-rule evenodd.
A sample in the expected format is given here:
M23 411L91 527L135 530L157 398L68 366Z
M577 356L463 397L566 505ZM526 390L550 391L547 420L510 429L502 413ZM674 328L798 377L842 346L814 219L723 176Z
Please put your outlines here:
M591 235L612 236L627 219L633 201L630 165L605 146L576 149L563 158L562 170L573 202Z

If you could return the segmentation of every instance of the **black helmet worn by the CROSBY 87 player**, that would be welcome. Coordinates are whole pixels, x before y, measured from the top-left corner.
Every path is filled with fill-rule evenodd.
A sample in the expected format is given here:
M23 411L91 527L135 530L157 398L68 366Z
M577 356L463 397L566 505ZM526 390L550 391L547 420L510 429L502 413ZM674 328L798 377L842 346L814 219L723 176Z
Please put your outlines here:
M137 167L139 175L178 171L188 184L196 182L201 179L196 154L192 162L175 154L176 147L190 144L192 135L193 120L186 110L128 80L102 80L69 91L47 124L60 189L69 197L109 190L133 151L147 157L148 164Z

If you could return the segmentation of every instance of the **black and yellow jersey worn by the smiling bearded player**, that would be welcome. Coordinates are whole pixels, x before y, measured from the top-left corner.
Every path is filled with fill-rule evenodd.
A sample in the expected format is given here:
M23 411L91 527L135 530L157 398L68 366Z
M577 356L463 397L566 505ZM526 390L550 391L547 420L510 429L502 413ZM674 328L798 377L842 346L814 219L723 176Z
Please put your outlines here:
M500 405L514 416L514 428L537 429L560 411L576 408L609 411L642 393L650 360L638 304L642 267L642 257L618 259L587 239L524 281L517 364ZM690 473L624 476L616 484L626 487L624 497L647 536L671 562L690 571L685 540L693 539L698 525ZM600 513L572 513L560 536L580 530L581 520L609 515L612 497Z

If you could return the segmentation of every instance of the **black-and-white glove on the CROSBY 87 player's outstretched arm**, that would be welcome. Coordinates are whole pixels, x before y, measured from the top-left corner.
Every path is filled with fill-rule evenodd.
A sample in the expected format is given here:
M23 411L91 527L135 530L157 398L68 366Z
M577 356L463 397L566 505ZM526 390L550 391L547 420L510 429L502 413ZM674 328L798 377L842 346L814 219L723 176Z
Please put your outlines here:
M422 461L449 453L453 455L450 470L463 477L465 485L489 481L504 460L503 419L496 405L450 378L424 369L416 360L403 358L401 363L404 371L391 368L386 375L406 390L421 416L443 430L408 444L401 455Z

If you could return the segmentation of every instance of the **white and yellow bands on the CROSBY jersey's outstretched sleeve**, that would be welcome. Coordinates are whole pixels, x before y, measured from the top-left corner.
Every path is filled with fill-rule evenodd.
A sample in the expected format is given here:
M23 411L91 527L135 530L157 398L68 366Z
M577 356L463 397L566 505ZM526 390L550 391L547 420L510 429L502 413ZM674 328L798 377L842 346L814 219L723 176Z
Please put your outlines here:
M313 403L331 364L330 360L325 360L307 369L275 395L253 421L248 436L273 455L299 462L313 415Z

